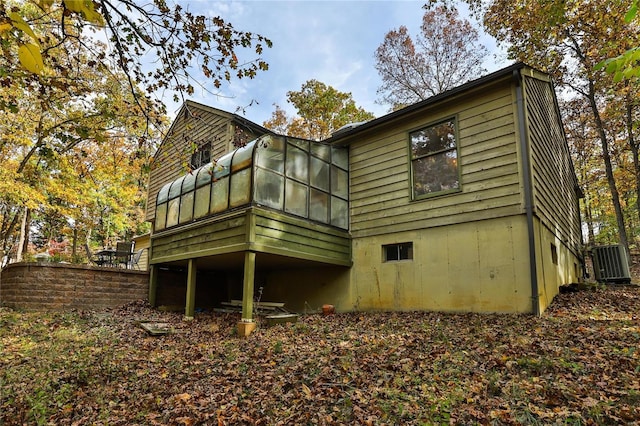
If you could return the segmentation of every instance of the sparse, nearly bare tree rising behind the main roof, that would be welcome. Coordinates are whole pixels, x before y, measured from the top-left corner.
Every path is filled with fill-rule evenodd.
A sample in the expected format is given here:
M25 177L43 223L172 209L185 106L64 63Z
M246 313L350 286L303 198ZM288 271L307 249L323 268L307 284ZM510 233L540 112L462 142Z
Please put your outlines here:
M438 6L422 17L412 40L405 26L389 31L375 52L382 78L379 102L393 109L427 99L481 75L487 50L478 31L455 8Z

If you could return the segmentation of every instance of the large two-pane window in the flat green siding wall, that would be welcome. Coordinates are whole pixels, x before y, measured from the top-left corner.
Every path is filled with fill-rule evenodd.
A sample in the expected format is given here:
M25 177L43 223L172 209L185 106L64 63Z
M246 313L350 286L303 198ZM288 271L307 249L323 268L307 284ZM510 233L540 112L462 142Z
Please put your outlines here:
M411 132L413 198L460 189L455 119Z

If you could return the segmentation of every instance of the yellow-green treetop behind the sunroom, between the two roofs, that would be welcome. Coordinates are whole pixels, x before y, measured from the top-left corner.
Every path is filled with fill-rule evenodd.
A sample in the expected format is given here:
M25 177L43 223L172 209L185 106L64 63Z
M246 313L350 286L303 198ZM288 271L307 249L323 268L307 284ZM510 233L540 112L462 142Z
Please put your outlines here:
M263 123L266 128L288 136L322 140L346 124L375 118L356 106L351 93L340 92L317 80L308 80L300 91L287 92L287 102L296 108L297 116L288 117L276 105L271 119Z

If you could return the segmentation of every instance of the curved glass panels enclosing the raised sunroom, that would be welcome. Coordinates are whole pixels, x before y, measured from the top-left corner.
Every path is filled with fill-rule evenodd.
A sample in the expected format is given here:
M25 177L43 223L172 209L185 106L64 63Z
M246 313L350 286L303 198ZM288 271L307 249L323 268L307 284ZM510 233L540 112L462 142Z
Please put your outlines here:
M347 229L348 184L346 148L264 136L163 186L155 230L252 204Z

